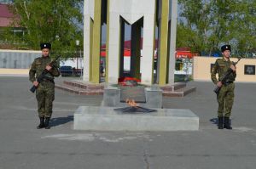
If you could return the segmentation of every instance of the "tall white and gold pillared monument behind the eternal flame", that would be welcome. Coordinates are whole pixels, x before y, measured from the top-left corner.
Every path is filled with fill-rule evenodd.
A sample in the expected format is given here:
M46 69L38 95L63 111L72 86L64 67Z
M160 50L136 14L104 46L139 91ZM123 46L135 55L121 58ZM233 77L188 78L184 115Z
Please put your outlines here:
M174 83L177 0L84 0L84 81L100 82L102 23L107 23L106 82L118 83L124 74L121 68L127 23L131 25L131 76L140 78L143 84L154 83L158 34L156 82Z

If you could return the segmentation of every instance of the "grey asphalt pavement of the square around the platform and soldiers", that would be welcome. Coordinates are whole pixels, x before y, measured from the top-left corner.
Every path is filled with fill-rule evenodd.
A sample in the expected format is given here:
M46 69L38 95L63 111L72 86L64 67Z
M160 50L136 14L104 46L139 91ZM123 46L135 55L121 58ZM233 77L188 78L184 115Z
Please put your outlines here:
M62 82L59 78L56 82ZM233 130L218 130L212 82L184 98L164 98L163 107L189 109L199 131L86 132L73 130L80 105L97 106L102 96L55 89L49 130L38 130L37 101L26 76L0 76L0 169L255 169L255 83L236 83Z

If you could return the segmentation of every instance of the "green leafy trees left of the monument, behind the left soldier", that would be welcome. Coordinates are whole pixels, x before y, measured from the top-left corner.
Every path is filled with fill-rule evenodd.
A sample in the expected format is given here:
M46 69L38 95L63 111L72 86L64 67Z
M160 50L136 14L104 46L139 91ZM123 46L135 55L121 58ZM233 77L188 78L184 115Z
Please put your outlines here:
M19 16L13 25L26 30L20 37L9 34L9 39L19 46L39 49L40 42L51 42L54 54L70 57L77 49L76 40L83 44L83 31L79 26L83 23L83 1L14 0L10 7Z

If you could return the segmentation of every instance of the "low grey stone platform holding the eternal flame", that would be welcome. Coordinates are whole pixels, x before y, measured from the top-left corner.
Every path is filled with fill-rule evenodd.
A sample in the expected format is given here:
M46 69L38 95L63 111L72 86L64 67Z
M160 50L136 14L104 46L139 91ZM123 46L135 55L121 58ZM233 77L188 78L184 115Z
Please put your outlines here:
M154 109L151 113L120 113L113 107L79 106L73 128L87 131L195 131L199 117L191 110Z

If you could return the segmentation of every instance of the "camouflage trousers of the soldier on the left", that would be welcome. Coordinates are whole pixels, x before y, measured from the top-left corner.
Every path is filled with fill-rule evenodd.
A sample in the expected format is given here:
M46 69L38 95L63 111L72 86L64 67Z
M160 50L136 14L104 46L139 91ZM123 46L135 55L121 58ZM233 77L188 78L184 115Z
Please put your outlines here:
M55 84L41 82L38 86L36 97L38 100L38 116L51 117L53 101L55 99Z

